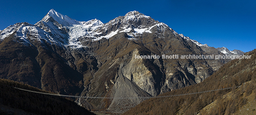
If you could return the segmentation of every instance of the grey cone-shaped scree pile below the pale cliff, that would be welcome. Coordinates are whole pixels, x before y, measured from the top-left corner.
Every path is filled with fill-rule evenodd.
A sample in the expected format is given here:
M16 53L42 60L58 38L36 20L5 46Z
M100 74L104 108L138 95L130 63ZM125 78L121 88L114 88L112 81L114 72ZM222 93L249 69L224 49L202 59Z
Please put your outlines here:
M139 88L137 84L124 77L121 70L118 71L117 82L114 84L111 92L113 92L111 97L114 99L107 110L118 113L123 113L145 100L145 98L140 97L151 96Z

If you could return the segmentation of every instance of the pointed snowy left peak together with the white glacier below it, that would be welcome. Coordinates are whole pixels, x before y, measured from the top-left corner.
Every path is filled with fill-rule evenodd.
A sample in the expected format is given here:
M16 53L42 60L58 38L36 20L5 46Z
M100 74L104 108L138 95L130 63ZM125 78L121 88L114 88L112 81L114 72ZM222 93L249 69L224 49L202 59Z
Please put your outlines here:
M44 31L49 32L56 40L64 42L64 46L81 48L83 46L78 38L94 36L96 34L95 30L102 26L103 23L97 19L90 21L76 21L52 9L35 25Z

